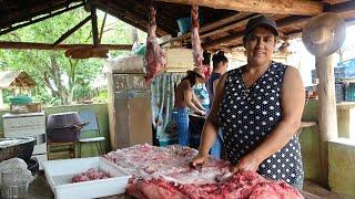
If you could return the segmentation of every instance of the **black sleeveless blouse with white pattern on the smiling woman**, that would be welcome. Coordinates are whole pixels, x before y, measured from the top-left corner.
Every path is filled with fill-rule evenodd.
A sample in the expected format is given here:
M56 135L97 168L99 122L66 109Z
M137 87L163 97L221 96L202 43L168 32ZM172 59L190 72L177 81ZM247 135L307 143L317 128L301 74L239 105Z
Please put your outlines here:
M281 90L287 66L272 62L250 88L243 83L242 69L227 73L219 112L224 159L233 164L256 148L281 121ZM297 135L265 159L257 172L271 179L283 179L291 185L300 182L303 179L303 166Z

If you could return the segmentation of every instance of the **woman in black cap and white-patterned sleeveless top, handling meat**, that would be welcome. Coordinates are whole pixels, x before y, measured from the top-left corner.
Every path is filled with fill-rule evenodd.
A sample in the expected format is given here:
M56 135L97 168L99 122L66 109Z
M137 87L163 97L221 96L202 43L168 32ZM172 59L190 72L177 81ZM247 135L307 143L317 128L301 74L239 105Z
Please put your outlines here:
M246 24L243 43L247 64L222 76L192 164L207 159L222 128L223 159L235 165L233 171L257 171L302 189L296 132L304 108L304 86L296 69L271 60L277 35L276 23L263 15Z

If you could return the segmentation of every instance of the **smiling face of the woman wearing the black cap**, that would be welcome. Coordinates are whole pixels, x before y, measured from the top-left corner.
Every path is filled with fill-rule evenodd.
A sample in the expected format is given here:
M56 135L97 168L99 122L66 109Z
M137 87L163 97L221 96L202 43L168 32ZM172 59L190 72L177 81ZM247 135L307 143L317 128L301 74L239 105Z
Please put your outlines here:
M275 48L275 35L263 27L256 27L245 42L247 62L253 65L265 65L271 61Z

